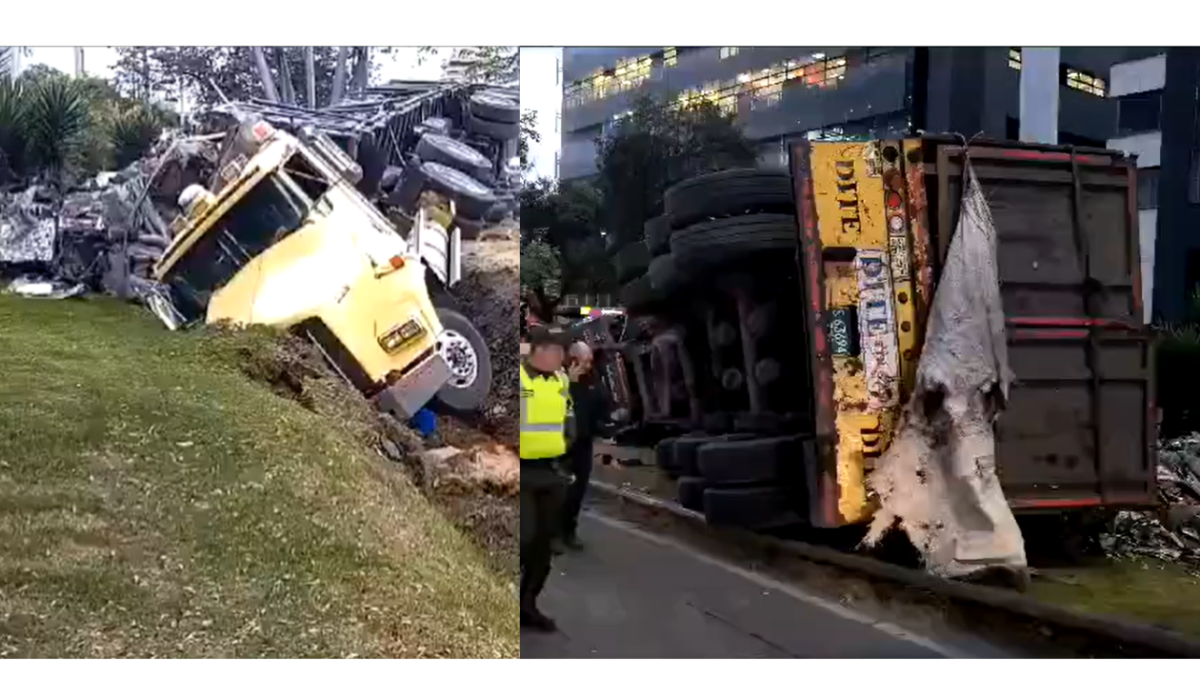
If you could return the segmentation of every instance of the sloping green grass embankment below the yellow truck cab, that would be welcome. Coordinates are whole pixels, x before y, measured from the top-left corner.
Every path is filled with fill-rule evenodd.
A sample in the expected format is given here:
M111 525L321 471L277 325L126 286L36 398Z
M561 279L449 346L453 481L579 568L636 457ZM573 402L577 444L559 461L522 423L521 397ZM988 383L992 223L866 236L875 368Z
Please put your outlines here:
M263 344L0 297L0 656L518 656L511 578Z

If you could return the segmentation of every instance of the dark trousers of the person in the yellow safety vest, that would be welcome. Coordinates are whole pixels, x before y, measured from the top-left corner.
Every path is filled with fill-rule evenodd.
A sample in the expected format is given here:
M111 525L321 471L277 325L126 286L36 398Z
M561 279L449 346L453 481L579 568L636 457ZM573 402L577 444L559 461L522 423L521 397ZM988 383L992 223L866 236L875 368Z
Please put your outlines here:
M554 460L521 460L521 609L533 609L550 577L569 478Z

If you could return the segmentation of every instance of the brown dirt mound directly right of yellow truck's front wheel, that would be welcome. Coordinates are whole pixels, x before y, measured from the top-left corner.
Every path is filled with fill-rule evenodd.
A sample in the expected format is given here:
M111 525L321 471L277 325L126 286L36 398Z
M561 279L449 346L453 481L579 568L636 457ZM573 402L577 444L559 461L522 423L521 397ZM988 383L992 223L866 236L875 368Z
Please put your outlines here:
M492 353L492 393L484 408L484 430L516 447L520 378L521 244L473 241L464 246L463 279L454 295L484 335Z

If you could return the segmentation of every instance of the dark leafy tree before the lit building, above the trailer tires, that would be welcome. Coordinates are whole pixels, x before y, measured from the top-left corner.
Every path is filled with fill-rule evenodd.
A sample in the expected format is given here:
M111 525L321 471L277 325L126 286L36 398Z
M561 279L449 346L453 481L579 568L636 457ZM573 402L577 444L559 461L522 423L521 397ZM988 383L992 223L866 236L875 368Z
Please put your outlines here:
M680 180L720 169L752 167L757 153L736 118L710 102L634 103L630 114L596 139L600 221L619 243L642 239L647 220L662 213L662 192Z

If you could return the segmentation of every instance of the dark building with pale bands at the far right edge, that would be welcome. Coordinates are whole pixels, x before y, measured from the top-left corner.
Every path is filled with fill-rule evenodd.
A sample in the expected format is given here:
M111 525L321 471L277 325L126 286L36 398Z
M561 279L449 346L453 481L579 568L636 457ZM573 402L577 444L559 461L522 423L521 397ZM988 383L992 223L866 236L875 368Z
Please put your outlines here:
M1200 289L1200 49L1115 64L1109 148L1138 155L1138 221L1147 318L1178 321Z

